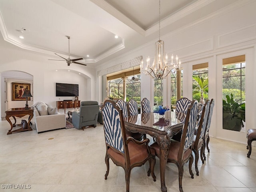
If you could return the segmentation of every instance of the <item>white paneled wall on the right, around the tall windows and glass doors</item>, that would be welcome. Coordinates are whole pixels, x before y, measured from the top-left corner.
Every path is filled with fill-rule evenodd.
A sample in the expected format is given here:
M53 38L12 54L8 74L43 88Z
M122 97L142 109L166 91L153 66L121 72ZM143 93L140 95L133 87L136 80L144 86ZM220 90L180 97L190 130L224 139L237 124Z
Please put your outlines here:
M246 108L246 114L250 115L246 115L246 126L247 129L254 128L256 124L254 118L256 115L254 110L256 108L254 100L256 95L254 75L256 74L254 67L256 64L255 7L255 0L240 0L227 9L219 10L218 13L212 16L202 18L195 23L191 23L190 26L161 36L161 40L164 40L165 43L165 51L169 56L172 53L174 55L178 54L182 61L184 97L192 98L192 64L199 64L202 61L209 62L209 98L215 99L216 106L214 107L210 135L244 143L246 142L246 133L241 133L240 136L231 138L228 137L229 133L224 133L223 135L217 131L217 127L222 127L222 95L219 94L222 91L222 83L217 82L217 79L222 79L220 77L222 72L219 70L222 62L219 62L218 58L226 53L230 53L233 56L234 54L247 54L246 58L249 58L247 65L250 65L250 70L246 70L246 104L250 103L250 106ZM148 42L144 46L102 64L98 69L104 69L140 55L143 56L144 60L148 55L153 58L154 43ZM248 49L249 51L247 51ZM169 82L168 80L164 81L165 88L170 86ZM99 91L97 92L99 93ZM152 80L148 76L141 75L141 97L147 97L153 103L152 92ZM164 103L168 104L170 94L164 91L164 96Z

